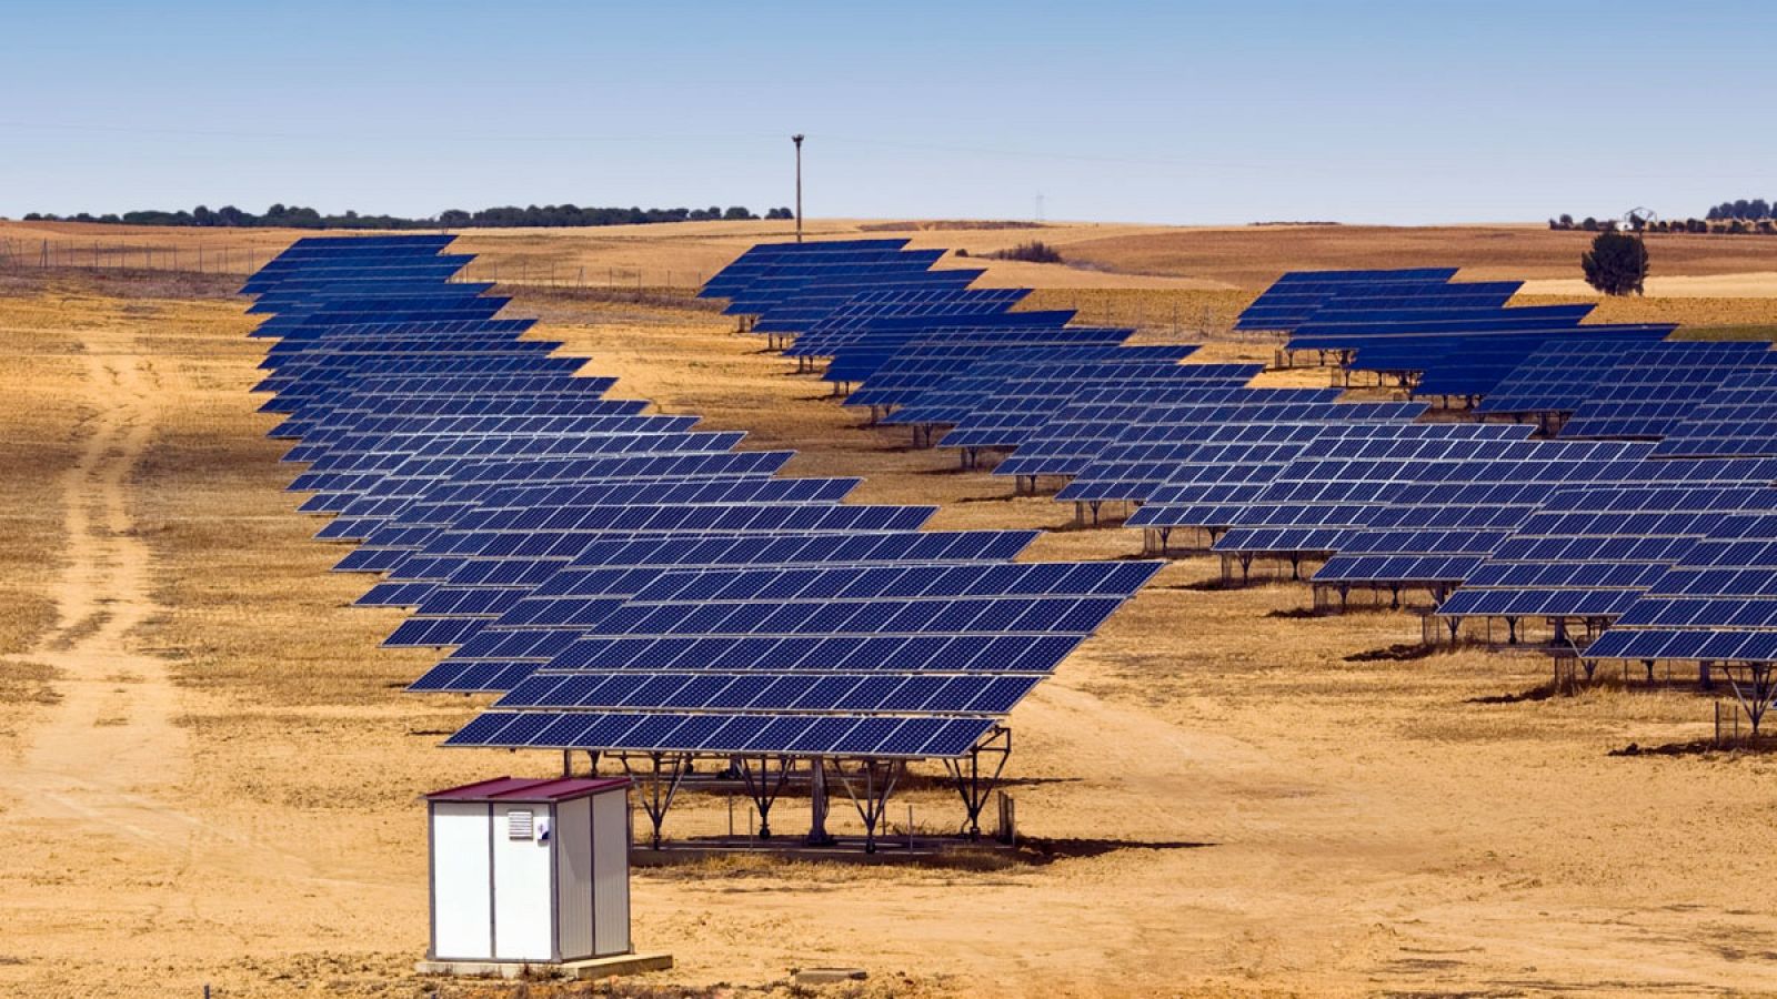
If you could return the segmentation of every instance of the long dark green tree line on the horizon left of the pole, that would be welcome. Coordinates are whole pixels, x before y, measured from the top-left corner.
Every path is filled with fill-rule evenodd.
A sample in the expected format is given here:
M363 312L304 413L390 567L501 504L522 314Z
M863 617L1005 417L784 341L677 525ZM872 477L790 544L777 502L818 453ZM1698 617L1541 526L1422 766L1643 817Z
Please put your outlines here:
M764 215L766 219L794 219L796 215L789 208L771 208ZM192 226L192 228L277 228L277 229L490 229L490 228L515 228L515 226L643 226L650 222L745 222L759 219L746 208L734 204L721 208L711 204L709 208L581 208L578 204L530 204L519 208L515 204L506 204L499 208L482 208L480 212L464 212L460 208L450 208L439 212L434 219L402 219L398 215L359 215L357 212L347 212L343 215L322 215L313 208L300 208L295 204L274 204L265 210L263 215L254 215L252 212L242 212L233 204L224 204L222 208L208 208L199 204L197 208L162 212L162 210L144 210L144 212L124 212L124 213L105 213L92 215L82 212L78 215L53 215L44 212L32 212L25 215L27 222L105 222L117 226Z

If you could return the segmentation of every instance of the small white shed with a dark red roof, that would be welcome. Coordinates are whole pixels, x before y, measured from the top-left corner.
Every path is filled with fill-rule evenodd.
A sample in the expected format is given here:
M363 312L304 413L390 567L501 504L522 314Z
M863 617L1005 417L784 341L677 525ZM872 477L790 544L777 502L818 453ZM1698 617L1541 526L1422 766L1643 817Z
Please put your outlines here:
M499 777L426 795L434 962L627 955L629 779Z

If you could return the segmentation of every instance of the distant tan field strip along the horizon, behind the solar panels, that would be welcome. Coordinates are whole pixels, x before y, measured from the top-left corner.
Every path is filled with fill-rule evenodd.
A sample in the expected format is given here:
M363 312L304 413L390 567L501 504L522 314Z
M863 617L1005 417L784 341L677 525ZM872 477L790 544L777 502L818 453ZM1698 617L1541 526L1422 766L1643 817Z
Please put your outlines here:
M1175 288L1256 292L1285 270L1354 267L1461 267L1462 279L1535 281L1526 292L1585 295L1580 254L1590 233L1544 226L1240 226L1178 228L1045 222L881 222L816 219L809 238L908 238L915 247L963 249L970 260L944 267L984 267L984 284L1032 288ZM458 247L480 254L471 276L514 283L588 284L641 281L695 286L761 240L791 238L791 222L673 222L588 229L466 229ZM75 222L0 222L0 240L30 251L41 240L69 247L75 261L94 244L179 249L187 263L199 247L211 267L222 251L245 270L242 251L265 254L304 235L288 229L160 229ZM1043 240L1066 265L981 260L979 254ZM1683 297L1777 295L1777 238L1651 235L1651 290ZM85 249L82 249L85 247ZM139 263L139 260L137 260ZM1546 283L1546 284L1544 284Z

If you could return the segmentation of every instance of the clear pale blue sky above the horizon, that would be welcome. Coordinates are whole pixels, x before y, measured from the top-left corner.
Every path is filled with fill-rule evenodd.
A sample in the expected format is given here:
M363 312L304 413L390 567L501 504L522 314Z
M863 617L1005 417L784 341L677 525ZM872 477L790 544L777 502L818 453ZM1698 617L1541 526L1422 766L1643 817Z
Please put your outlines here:
M1777 196L1777 4L0 5L0 215L1530 220Z

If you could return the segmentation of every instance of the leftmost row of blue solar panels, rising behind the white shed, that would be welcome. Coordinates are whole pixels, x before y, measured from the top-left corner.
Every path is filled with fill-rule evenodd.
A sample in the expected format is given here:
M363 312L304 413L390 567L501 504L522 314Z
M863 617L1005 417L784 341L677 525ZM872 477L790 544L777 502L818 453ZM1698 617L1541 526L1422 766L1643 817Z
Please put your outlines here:
M359 603L412 610L387 645L446 651L412 690L499 695L450 745L956 757L1159 567L1020 563L1034 531L926 531L931 507L780 478L793 453L610 398L496 318L448 242L299 240L245 292L302 510L354 546L339 571L380 574ZM935 260L885 249L810 274ZM757 277L743 300L794 284Z

